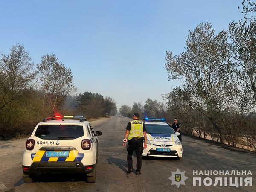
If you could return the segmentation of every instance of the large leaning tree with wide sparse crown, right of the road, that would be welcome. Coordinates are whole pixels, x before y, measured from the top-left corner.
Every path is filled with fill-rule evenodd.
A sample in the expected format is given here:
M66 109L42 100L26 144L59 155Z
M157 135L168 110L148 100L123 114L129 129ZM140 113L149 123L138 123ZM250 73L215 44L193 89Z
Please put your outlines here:
M215 35L209 23L200 23L186 37L186 49L180 55L166 52L169 79L183 80L180 94L200 111L218 130L223 131L218 116L232 105L235 84L230 73L227 32Z

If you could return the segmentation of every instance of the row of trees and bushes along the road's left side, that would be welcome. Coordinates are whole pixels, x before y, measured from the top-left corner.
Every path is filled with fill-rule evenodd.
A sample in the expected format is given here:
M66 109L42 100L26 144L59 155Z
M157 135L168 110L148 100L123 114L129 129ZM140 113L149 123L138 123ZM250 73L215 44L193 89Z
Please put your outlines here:
M44 55L34 64L23 45L13 45L9 54L0 55L0 140L23 137L56 113L99 118L117 111L111 97L73 93L73 73L56 55Z

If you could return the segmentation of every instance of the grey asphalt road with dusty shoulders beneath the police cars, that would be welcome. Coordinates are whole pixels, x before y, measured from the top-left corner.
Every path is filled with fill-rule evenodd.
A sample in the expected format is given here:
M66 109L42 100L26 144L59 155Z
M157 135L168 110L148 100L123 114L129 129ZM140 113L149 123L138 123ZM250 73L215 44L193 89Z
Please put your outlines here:
M183 157L143 159L142 174L126 174L126 150L122 147L125 127L130 119L113 117L92 123L99 136L99 163L96 183L86 183L77 175L47 175L38 182L24 184L22 155L26 139L0 142L0 190L2 191L256 191L256 154L225 145L182 136ZM136 167L136 157L134 157ZM185 171L185 185L172 185L172 172ZM193 170L246 170L252 175L193 175ZM253 177L253 186L193 186L193 177ZM234 179L234 178L233 178ZM234 182L234 180L233 180ZM208 183L208 182L207 182ZM219 184L219 183L218 183Z

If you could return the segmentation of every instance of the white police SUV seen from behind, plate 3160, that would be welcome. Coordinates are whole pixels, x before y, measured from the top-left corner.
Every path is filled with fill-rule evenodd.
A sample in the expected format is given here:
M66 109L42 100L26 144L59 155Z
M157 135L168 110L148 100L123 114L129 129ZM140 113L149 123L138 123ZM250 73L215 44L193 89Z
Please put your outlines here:
M79 119L79 120L76 120ZM44 173L79 173L96 181L98 137L83 116L48 117L36 125L23 154L24 183Z

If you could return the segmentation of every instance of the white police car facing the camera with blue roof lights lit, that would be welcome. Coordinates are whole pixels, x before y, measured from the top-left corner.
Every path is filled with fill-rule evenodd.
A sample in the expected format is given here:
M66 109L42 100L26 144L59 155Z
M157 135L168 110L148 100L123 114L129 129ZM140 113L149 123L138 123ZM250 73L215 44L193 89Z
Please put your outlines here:
M147 129L147 148L143 149L143 156L154 157L182 157L182 145L172 127L164 118L145 118ZM143 144L144 145L144 144Z

